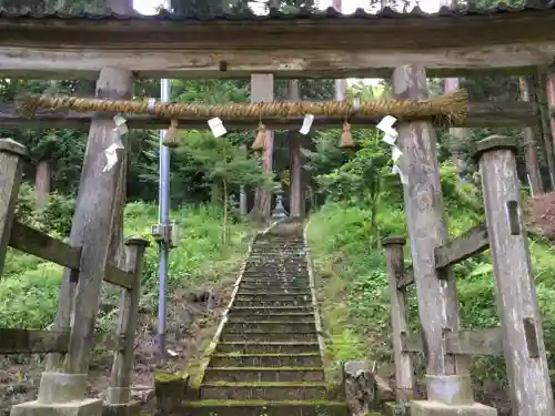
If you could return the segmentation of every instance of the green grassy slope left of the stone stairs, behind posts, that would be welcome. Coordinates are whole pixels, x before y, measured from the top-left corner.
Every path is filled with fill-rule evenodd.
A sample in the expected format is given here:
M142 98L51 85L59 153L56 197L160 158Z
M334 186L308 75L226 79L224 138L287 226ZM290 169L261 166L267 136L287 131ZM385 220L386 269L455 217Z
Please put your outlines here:
M216 286L223 276L236 273L244 253L248 227L230 225L231 240L222 242L223 213L214 206L183 206L171 214L180 226L178 247L170 254L169 295L178 290L199 291ZM33 217L33 225L37 216ZM124 234L148 240L158 222L158 207L130 203L125 209ZM54 233L56 234L56 233ZM153 242L152 242L153 243ZM0 327L48 328L56 315L62 267L9 250L0 280ZM158 303L158 253L151 244L145 254L141 306L155 310ZM109 296L115 296L115 291ZM113 316L100 315L98 325L111 326Z

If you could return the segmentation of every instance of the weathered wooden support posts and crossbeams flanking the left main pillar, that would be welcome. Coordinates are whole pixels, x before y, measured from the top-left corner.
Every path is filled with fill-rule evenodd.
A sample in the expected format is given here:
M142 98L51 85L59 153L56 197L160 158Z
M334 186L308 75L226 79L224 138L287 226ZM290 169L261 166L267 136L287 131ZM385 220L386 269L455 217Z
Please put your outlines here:
M70 281L72 287L77 287L82 275L82 247L72 246L14 220L14 207L21 183L24 156L26 151L23 146L11 140L0 140L0 278L6 252L8 246L10 246L67 267L67 270L71 271ZM134 406L130 398L130 381L133 369L133 345L139 315L142 263L148 242L142 239L127 239L124 246L124 267L119 268L112 264L105 264L103 275L104 282L119 286L122 290L120 316L115 332L112 335L94 333L84 343L88 349L102 348L114 353L111 383L108 387L104 408L115 406L122 409L123 407L132 408ZM65 304L72 305L77 292L72 290L68 293L61 293L60 296L71 297L60 298L60 302L63 301ZM94 306L93 303L97 303L97 305ZM94 307L94 311L97 311L99 303L100 298L95 298L91 300L91 304L75 305L74 307ZM67 312L72 314L74 310L70 307ZM0 354L54 353L63 357L63 355L71 352L72 336L82 336L81 334L72 334L72 325L67 331L0 328ZM68 371L65 373L71 372ZM81 374L75 374L75 376L81 376ZM81 383L79 377L75 381ZM84 383L82 384L84 386ZM48 394L42 394L42 397L41 392L39 392L39 402L41 404L64 403L64 399L65 402L78 402L83 398L79 388L74 397L65 397L65 393L60 393L60 397L53 398L47 397L52 387L50 386L48 389Z

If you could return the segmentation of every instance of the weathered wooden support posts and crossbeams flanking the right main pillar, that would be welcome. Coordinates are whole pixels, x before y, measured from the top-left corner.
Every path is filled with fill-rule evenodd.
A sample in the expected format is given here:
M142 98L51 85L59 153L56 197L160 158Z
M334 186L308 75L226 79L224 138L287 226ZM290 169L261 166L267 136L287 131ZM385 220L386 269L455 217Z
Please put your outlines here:
M538 402L549 406L551 385L531 275L526 230L519 217L519 183L514 150L514 141L508 138L493 136L480 143L477 159L484 190L486 222L434 250L436 276L438 280L445 280L444 287L447 287L447 281L453 278L451 273L453 265L491 248L497 311L502 326L461 331L458 325L455 325L436 327L435 331L443 337L442 354L457 357L456 359L462 362L470 362L472 356L504 356L509 377L511 399L513 407L517 409L515 416L521 416L537 414L535 413L537 408L534 406L537 406ZM389 236L382 242L385 248L391 296L397 404L406 404L415 396L416 381L411 353L424 353L426 359L430 354L438 353L428 351L424 332L408 333L405 312L406 290L416 284L422 323L421 308L422 300L426 300L424 293L426 286L418 286L418 278L423 277L418 276L417 268L413 270L412 265L404 264L405 242L403 236ZM448 294L444 293L442 296L447 297ZM456 296L453 297L453 294L451 296L455 300L455 304L445 300L428 298L426 302L445 302L446 308L456 310ZM448 314L448 311L446 313ZM428 328L433 328L434 325L437 326L435 323L427 323ZM531 384L535 385L535 393L528 395L525 392L529 390Z

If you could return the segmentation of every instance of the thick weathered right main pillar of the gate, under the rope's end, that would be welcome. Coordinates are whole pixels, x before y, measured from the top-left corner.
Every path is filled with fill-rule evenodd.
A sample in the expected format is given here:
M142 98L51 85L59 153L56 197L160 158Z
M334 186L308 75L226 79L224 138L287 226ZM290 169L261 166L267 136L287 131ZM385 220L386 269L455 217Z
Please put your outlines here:
M393 93L397 100L427 98L423 68L403 65L393 72ZM435 267L435 248L447 243L436 140L428 122L401 123L397 146L403 152L400 168L407 179L403 185L405 213L411 243L418 314L426 354L426 387L430 400L446 404L470 403L472 392L467 358L447 354L446 332L458 331L456 284L451 270ZM448 375L458 377L442 377ZM448 388L436 387L437 383ZM457 397L446 394L451 388ZM463 397L464 392L464 397Z

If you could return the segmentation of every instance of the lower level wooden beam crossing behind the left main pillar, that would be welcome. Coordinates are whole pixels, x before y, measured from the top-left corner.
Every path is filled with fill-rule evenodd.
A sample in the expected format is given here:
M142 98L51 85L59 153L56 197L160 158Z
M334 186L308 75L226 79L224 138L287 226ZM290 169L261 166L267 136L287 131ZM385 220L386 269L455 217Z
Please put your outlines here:
M123 335L95 333L97 349L121 351ZM44 354L68 352L69 332L0 328L0 354Z

